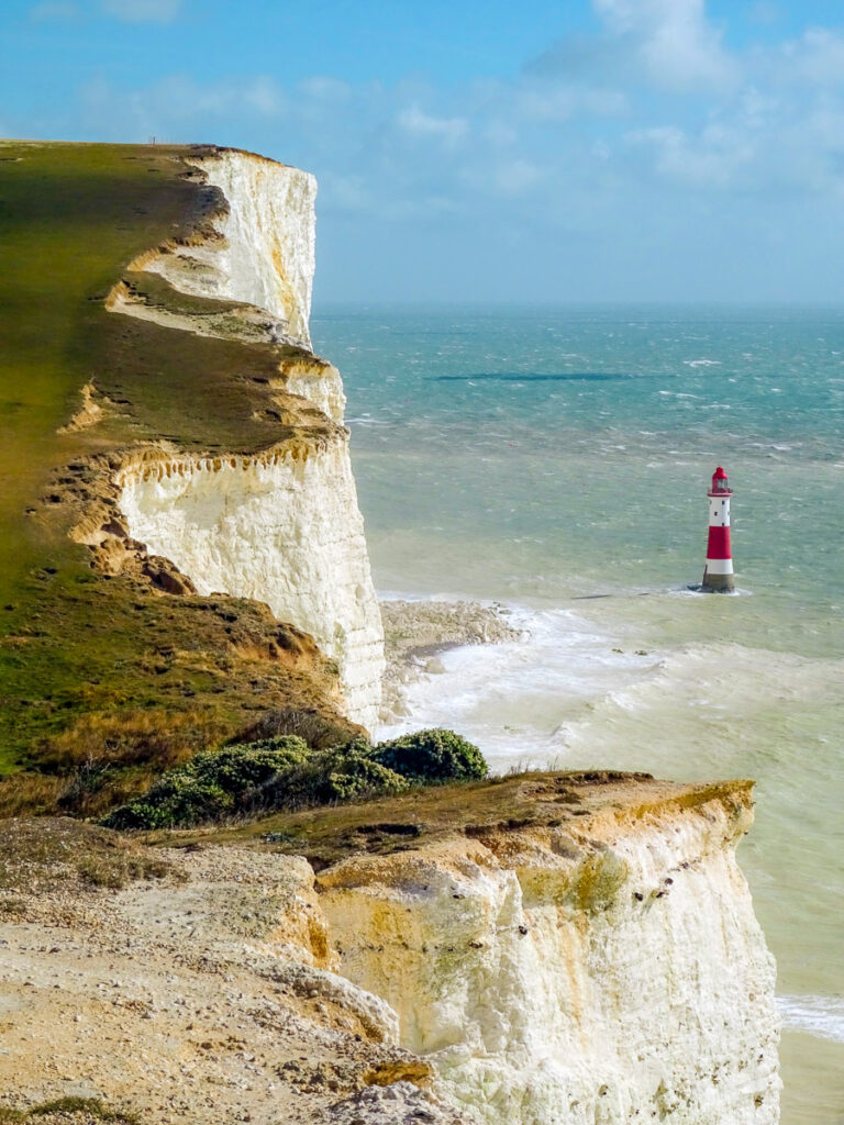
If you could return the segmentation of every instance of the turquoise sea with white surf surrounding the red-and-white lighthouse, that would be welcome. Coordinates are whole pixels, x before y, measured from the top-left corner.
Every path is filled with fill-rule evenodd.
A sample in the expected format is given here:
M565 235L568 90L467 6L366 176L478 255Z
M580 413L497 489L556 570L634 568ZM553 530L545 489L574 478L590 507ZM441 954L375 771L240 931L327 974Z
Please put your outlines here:
M783 1125L844 1123L844 309L326 307L381 597L497 603L401 729L495 771L753 777ZM707 489L734 594L699 591Z

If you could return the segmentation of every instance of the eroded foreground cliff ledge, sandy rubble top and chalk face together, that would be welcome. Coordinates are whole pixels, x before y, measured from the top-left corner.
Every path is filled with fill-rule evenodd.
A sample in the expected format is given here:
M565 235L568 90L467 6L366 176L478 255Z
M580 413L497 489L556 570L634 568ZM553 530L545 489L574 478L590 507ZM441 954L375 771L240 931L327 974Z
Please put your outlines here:
M12 848L3 1099L84 1092L155 1125L773 1125L752 818L746 782L536 774L181 848L100 830L48 870L44 840L28 866Z

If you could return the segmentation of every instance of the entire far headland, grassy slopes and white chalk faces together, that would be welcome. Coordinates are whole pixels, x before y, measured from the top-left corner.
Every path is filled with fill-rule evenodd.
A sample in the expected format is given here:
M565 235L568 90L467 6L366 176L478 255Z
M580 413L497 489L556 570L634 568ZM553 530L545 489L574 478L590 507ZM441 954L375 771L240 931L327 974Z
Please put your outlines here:
M371 726L313 177L207 145L0 155L0 810L97 814L269 709Z

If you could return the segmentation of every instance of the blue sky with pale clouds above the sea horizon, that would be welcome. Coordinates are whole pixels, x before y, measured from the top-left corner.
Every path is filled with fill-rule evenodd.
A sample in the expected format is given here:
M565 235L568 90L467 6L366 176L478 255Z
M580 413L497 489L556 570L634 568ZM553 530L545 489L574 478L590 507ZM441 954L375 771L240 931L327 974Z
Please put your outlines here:
M843 0L5 0L0 135L313 172L332 303L844 303Z

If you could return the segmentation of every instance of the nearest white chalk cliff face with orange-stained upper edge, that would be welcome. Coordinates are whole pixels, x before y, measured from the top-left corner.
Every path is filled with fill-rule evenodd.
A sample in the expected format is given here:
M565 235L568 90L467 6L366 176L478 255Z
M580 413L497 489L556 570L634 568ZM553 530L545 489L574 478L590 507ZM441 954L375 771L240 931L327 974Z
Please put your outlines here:
M625 808L625 804L627 807ZM487 1125L773 1125L747 786L610 804L318 876L342 972Z

